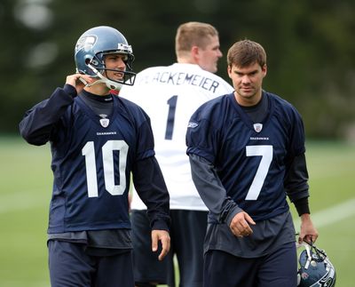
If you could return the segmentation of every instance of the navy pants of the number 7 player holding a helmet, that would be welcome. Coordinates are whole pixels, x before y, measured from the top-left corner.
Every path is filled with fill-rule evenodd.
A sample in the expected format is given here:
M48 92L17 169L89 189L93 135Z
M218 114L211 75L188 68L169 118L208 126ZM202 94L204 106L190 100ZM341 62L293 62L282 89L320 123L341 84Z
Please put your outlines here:
M296 287L296 244L286 243L271 254L244 259L224 251L206 253L203 286Z

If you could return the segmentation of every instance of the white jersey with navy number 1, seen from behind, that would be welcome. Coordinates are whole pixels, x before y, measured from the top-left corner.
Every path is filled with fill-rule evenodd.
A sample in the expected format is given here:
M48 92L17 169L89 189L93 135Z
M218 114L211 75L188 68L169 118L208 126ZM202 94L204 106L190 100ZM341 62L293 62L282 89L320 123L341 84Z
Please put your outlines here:
M185 134L193 112L207 100L233 92L219 76L198 65L175 63L146 68L133 86L123 85L119 96L138 104L150 116L156 159L170 194L170 209L207 211L191 178ZM146 205L133 190L131 209Z

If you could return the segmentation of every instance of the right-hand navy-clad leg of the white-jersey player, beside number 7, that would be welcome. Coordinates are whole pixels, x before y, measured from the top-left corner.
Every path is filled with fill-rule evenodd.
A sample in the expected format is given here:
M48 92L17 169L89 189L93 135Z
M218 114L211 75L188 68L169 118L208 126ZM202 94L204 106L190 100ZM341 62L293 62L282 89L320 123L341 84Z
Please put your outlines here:
M177 253L180 286L200 287L208 211L171 210L171 242Z

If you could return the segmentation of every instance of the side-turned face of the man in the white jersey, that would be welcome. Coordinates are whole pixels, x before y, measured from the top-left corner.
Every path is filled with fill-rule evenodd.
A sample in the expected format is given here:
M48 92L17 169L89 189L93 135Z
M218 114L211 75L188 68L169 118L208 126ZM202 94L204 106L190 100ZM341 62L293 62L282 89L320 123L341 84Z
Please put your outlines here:
M199 66L211 73L217 72L217 62L219 58L223 56L222 52L219 50L219 39L218 36L210 36L210 42L204 48L198 48Z

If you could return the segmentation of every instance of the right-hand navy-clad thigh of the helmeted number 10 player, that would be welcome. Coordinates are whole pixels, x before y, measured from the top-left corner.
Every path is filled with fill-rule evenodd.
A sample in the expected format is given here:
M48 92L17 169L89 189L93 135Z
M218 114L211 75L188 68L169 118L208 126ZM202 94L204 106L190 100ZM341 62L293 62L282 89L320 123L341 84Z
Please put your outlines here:
M98 258L95 286L133 287L132 252Z

